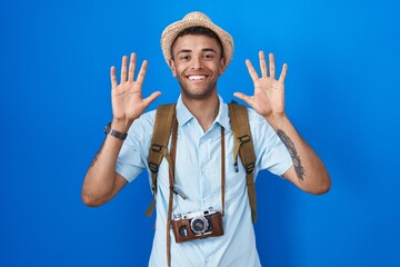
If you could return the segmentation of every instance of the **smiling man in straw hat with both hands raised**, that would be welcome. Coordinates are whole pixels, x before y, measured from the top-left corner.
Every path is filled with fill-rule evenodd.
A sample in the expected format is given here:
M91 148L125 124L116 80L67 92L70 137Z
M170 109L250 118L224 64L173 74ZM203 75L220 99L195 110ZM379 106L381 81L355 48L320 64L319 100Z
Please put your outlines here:
M161 46L181 92L176 107L178 140L173 179L178 194L171 194L171 212L198 212L209 207L222 210L223 235L174 241L172 229L167 227L172 218L168 212L169 165L163 160L158 175L156 234L149 266L260 266L246 171L242 166L239 170L234 168L228 107L217 92L218 78L232 57L233 40L203 13L191 12L166 28ZM273 55L269 55L269 68L262 51L259 59L261 77L246 61L254 85L253 96L234 92L251 107L248 112L257 159L254 177L259 170L268 169L304 191L324 194L330 188L329 175L284 112L283 82L288 67L283 65L276 79ZM136 55L131 55L129 67L128 58L123 57L118 83L116 68L111 67L113 119L84 178L82 199L89 206L107 202L142 170L149 171L147 160L156 112L143 111L161 92L142 97L146 69L143 61L134 79ZM222 150L226 157L221 157ZM222 168L226 168L226 184L221 200Z

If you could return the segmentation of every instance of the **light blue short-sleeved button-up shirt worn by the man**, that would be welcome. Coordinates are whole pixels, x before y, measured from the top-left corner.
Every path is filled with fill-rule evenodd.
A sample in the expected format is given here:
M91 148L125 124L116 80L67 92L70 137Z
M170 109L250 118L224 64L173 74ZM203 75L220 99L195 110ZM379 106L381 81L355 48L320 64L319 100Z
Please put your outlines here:
M254 177L262 169L282 175L292 165L284 145L264 118L252 109L249 121L256 152ZM177 102L178 144L176 156L176 187L187 199L173 197L172 214L187 214L212 207L221 211L221 127L226 138L226 188L224 235L177 244L171 237L171 264L174 267L259 267L256 237L246 186L246 171L239 161L239 172L233 166L233 132L229 120L228 105L220 98L219 113L212 127L204 132L187 109L181 98ZM151 142L156 111L137 119L117 160L117 172L132 181L148 169L148 152ZM167 266L167 216L169 201L168 162L162 160L158 175L156 196L156 234L149 266ZM254 178L256 179L256 178Z

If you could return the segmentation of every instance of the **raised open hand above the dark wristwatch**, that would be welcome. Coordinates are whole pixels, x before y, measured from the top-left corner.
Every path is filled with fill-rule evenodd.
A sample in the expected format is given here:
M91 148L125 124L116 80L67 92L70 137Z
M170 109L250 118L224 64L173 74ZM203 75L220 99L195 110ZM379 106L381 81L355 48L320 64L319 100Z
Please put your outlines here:
M139 118L147 107L161 95L160 91L151 93L148 98L142 97L142 86L146 77L148 62L144 60L140 67L137 79L134 80L136 71L136 55L131 53L129 69L128 57L122 57L121 79L117 82L116 67L111 67L111 101L113 123L121 123L129 127L130 123Z

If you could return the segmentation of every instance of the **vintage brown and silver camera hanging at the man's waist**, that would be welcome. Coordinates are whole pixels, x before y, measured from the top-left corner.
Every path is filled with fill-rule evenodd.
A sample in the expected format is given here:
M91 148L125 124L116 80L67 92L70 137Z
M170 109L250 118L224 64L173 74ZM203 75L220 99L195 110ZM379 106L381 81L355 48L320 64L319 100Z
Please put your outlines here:
M177 215L171 224L177 243L223 235L222 215L212 208Z

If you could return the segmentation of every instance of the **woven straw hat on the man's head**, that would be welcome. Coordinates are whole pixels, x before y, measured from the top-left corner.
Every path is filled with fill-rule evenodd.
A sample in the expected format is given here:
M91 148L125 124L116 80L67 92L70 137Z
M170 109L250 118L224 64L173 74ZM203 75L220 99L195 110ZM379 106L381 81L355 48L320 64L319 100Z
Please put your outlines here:
M178 34L188 28L198 27L198 26L208 28L217 33L217 36L219 37L222 43L223 56L227 60L227 67L228 67L233 53L232 37L227 31L222 30L220 27L212 23L210 18L207 17L204 13L198 11L188 13L187 16L183 17L182 20L173 22L163 30L161 34L161 49L167 63L168 60L172 58L171 47L173 41L177 39Z

